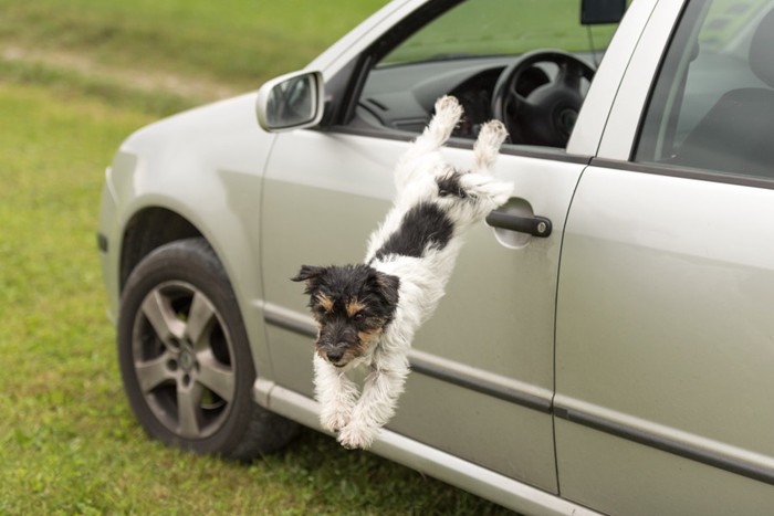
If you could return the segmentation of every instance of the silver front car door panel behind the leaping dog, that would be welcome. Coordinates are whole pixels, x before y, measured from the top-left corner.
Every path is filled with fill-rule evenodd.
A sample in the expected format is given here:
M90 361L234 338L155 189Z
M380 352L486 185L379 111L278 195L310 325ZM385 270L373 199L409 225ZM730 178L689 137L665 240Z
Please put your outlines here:
M574 20L576 7L568 6ZM405 22L419 25L417 17L425 14L418 12L406 15ZM466 20L481 12L453 15ZM387 29L372 29L372 38L377 30L385 31L385 39L405 32ZM379 44L377 40L370 48ZM368 57L332 61L349 60ZM443 71L433 74L433 81L463 73L448 63L432 66ZM346 104L348 98L336 95L348 95L351 89L336 89L344 82L341 76L327 78L330 92L344 92L330 93L331 102ZM387 105L401 93L396 84L402 78L390 83L381 102L364 99L357 109L364 104ZM432 93L433 81L409 92L417 102L419 93L429 99L422 117L406 125L396 122L395 127L412 124L421 130L435 98L447 93ZM410 102L400 106L415 107ZM446 297L415 339L412 372L388 424L393 432L553 493L557 491L551 414L556 278L565 217L589 159L584 149L596 145L594 130L587 135L587 145L577 146L577 155L506 146L495 170L499 178L513 181L514 193L503 212L547 218L553 232L537 238L482 224L469 234ZM363 260L368 234L389 208L393 168L410 138L354 123L276 137L263 183L261 256L271 375L282 389L313 396L315 326L306 315L302 287L289 278L302 264ZM472 139L454 139L443 155L470 168Z

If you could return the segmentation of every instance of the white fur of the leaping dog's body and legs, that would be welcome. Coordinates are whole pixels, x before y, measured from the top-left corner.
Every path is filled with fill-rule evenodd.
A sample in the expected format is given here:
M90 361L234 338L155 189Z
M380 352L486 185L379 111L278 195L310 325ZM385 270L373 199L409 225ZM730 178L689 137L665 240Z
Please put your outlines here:
M462 107L454 97L438 99L435 117L398 161L395 203L369 239L366 263L400 280L393 322L366 356L344 368L336 368L315 354L315 392L322 406L321 423L327 430L338 431L338 441L346 447L370 446L379 429L395 414L409 373L408 350L414 335L443 296L462 246L462 234L511 196L513 186L495 180L491 171L508 136L499 120L482 127L473 147L475 169L461 178L470 198L439 196L436 179L454 170L443 161L439 149L461 116ZM398 230L406 212L420 201L432 201L444 208L453 223L453 235L448 244L440 250L429 246L421 257L388 255L374 260L389 235ZM364 364L369 366L370 373L358 398L358 388L346 371Z

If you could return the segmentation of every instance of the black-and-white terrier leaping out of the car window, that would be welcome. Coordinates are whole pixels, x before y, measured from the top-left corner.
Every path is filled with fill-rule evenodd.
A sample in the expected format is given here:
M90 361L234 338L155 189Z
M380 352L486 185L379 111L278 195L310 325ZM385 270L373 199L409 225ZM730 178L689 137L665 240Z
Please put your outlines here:
M443 296L462 235L511 197L492 166L508 131L484 124L473 146L474 169L443 161L440 148L462 116L457 98L444 96L435 116L398 160L397 196L370 235L364 263L303 265L292 278L305 282L318 324L315 396L324 429L338 432L348 449L367 449L395 414L409 373L414 335ZM370 371L359 392L347 372Z

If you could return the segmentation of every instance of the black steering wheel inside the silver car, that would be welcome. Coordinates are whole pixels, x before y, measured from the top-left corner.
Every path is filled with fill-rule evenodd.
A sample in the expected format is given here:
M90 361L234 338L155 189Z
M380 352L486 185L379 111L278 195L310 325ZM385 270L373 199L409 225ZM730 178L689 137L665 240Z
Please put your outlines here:
M537 63L554 63L558 72L552 78L541 70L543 84L524 91L523 77L534 75ZM583 104L580 80L593 77L594 69L561 50L524 54L498 77L492 115L505 124L514 144L565 147Z

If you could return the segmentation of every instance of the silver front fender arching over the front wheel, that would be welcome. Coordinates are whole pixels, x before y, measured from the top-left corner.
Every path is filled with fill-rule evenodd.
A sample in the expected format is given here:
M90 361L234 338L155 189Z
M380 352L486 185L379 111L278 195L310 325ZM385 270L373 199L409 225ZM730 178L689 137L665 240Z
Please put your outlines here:
M129 136L107 169L100 233L115 318L128 229L170 231L159 227L169 219L143 218L153 210L185 220L189 229L178 238L190 236L192 228L213 248L240 304L257 370L271 376L265 346L259 345L265 341L259 228L263 170L274 136L255 123L254 105L251 93L175 115Z

